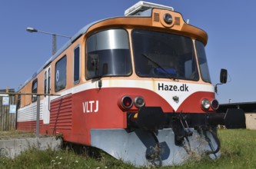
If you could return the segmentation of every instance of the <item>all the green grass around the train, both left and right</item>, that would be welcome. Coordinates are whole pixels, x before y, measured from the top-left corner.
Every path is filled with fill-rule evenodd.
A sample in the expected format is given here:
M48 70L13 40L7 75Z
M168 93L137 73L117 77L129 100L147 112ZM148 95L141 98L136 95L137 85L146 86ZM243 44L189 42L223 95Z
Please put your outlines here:
M219 130L218 136L221 140L220 159L212 161L202 157L171 168L256 168L256 131ZM30 149L15 159L0 157L0 168L135 168L102 151L89 156L75 152L73 148L62 151Z

